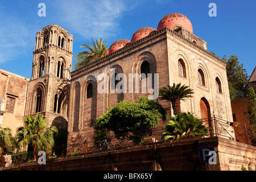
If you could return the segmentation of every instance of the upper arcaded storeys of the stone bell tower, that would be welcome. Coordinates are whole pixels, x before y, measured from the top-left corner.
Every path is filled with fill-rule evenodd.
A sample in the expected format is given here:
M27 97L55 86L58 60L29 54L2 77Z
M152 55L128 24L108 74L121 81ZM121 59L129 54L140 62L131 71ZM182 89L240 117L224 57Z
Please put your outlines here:
M69 80L72 67L73 35L51 24L37 32L31 79L47 74Z

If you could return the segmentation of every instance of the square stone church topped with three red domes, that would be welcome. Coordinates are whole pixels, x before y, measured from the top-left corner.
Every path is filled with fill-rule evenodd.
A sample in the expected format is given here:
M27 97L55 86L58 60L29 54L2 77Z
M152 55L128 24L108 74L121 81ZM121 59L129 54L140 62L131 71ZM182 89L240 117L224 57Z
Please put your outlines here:
M119 73L124 76L118 77ZM116 80L123 81L121 92ZM186 16L172 13L156 28L143 27L130 40L115 41L108 55L71 73L68 144L92 139L96 118L109 106L121 100L138 101L141 96L154 98L159 89L173 83L195 92L181 101L181 111L206 121L213 115L233 121L225 62L207 51L207 42L193 34ZM146 92L142 92L144 84ZM154 99L170 118L171 103Z

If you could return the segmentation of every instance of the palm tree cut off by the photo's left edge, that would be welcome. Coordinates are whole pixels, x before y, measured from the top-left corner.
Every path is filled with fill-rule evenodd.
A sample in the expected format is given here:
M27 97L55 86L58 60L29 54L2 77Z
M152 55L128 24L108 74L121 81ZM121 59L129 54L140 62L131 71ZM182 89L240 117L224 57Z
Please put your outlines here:
M5 148L11 147L11 129L9 127L0 127L0 155Z

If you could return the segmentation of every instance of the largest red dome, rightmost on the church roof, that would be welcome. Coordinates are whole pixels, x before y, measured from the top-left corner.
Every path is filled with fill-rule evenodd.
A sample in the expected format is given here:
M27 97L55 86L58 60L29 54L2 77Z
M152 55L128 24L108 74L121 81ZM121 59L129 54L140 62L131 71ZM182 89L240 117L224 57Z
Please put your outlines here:
M193 28L190 20L187 16L179 13L171 13L166 16L162 20L160 20L158 24L158 30L168 27L173 30L176 27L183 27L187 31L193 33Z

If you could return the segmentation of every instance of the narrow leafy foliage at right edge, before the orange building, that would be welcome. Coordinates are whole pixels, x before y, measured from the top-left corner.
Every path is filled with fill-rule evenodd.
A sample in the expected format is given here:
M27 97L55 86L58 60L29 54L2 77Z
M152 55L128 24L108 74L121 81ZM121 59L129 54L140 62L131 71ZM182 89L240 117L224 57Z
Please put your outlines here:
M245 114L251 125L250 131L253 134L253 142L256 142L256 94L252 87L250 87L246 97L249 100L250 105L246 106L248 111Z

